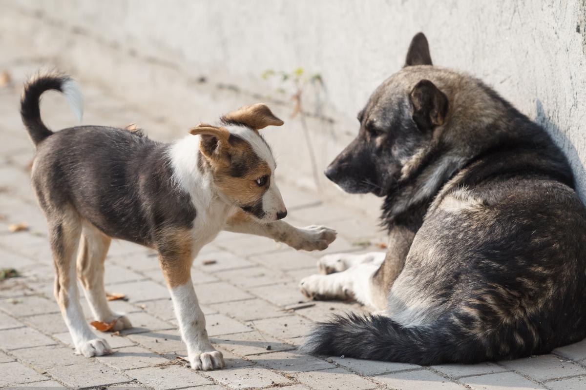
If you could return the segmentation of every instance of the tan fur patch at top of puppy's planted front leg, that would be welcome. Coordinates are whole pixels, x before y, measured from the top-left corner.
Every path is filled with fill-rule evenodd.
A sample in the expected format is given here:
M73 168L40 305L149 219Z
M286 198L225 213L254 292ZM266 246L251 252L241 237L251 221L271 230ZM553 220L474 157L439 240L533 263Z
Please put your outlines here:
M189 229L168 227L159 232L156 248L159 264L169 288L182 286L191 279L193 237Z

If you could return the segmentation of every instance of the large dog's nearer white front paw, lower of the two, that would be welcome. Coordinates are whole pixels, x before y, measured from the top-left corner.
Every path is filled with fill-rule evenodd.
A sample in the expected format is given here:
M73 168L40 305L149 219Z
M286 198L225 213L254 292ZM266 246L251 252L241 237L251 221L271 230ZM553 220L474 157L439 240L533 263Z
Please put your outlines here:
M373 285L373 275L379 267L380 264L361 263L331 275L309 275L299 282L299 289L308 298L316 300L356 299L363 305L384 310L376 305Z

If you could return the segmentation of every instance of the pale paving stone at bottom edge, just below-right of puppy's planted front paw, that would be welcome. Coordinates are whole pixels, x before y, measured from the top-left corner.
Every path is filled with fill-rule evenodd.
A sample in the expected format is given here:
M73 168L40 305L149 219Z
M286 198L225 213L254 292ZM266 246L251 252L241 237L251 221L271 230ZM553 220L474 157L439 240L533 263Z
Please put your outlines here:
M285 385L291 380L262 367L248 366L228 370L206 371L205 375L230 389L254 389L270 385Z

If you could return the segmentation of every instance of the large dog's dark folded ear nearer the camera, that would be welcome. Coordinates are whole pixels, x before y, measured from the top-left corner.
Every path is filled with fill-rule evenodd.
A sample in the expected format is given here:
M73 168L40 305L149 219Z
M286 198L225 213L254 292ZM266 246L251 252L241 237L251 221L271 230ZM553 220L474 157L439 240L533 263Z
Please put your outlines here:
M448 96L429 80L421 80L409 94L413 105L413 120L420 130L432 130L444 124L448 112Z

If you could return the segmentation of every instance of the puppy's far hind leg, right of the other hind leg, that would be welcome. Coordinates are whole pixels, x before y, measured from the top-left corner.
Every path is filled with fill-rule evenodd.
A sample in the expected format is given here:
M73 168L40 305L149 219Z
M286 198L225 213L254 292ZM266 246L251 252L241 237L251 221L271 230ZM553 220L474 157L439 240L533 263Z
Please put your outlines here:
M113 330L122 330L132 327L132 324L124 313L110 309L104 290L104 261L111 241L96 226L84 222L77 256L77 272L94 319L105 323L116 320Z

